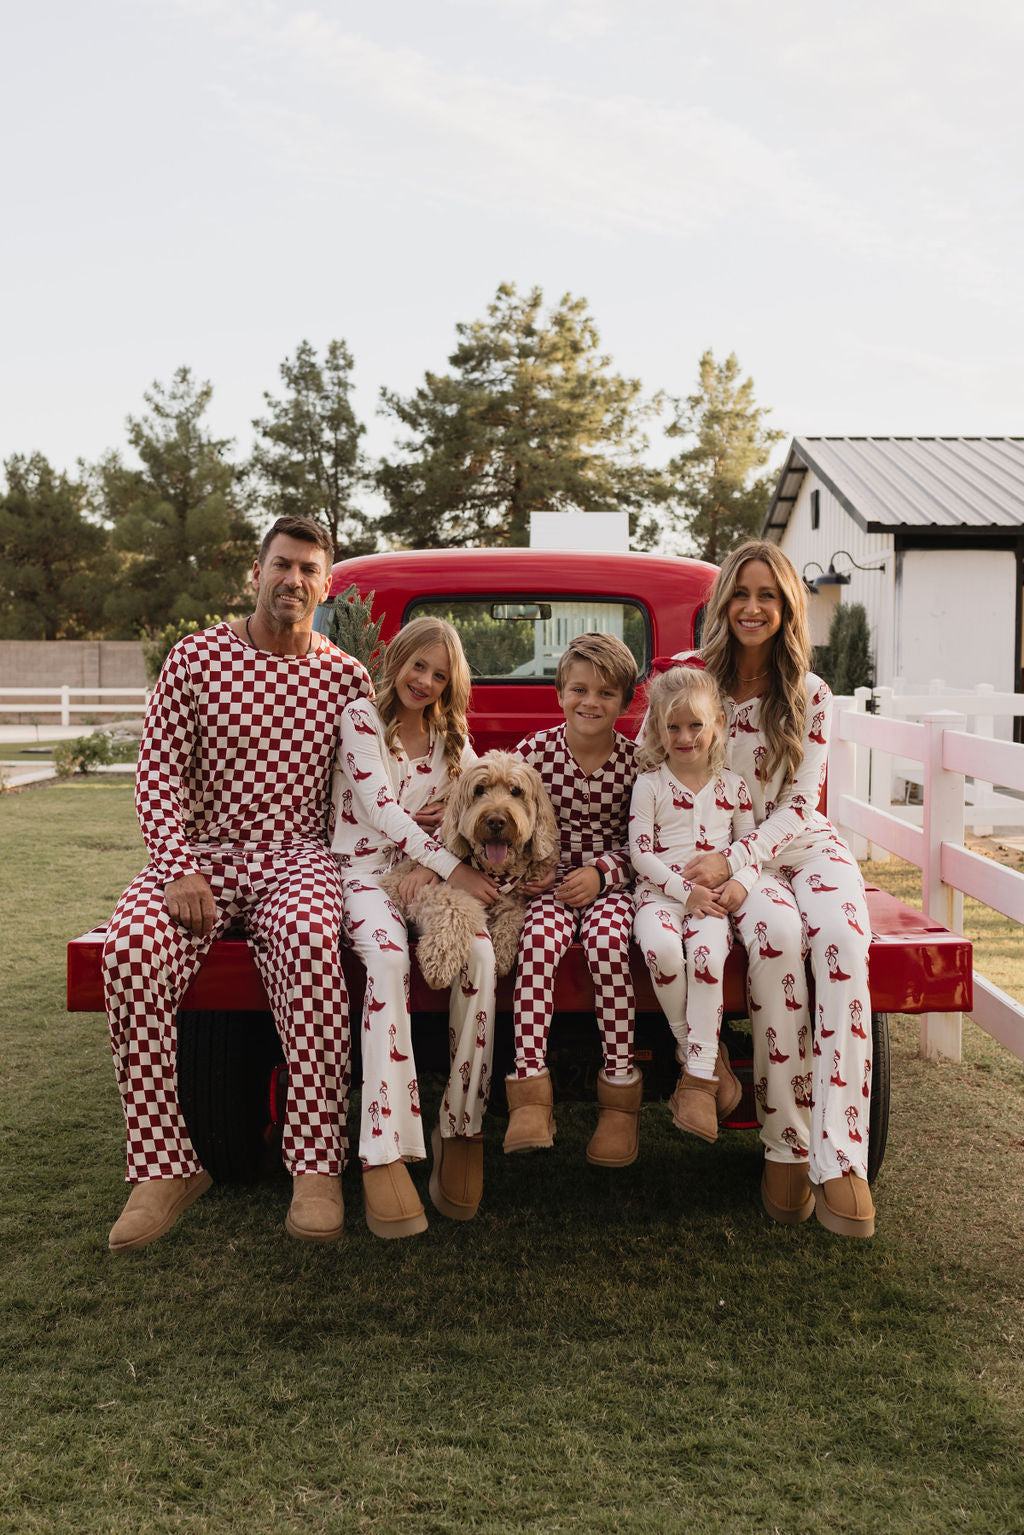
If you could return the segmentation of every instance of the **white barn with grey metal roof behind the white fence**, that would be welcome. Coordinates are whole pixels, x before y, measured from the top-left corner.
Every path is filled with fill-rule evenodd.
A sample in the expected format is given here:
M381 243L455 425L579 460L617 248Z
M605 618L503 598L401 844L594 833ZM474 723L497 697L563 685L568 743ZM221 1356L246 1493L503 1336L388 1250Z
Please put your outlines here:
M814 586L815 645L864 605L878 686L1024 691L1024 437L794 437L761 536Z

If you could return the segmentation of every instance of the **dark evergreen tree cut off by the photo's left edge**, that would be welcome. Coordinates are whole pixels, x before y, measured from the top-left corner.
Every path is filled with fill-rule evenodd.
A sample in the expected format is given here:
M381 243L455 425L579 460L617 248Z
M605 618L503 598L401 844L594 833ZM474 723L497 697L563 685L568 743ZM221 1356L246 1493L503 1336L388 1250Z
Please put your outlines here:
M86 487L41 453L14 454L3 470L0 639L100 635L115 557L106 530L86 516Z

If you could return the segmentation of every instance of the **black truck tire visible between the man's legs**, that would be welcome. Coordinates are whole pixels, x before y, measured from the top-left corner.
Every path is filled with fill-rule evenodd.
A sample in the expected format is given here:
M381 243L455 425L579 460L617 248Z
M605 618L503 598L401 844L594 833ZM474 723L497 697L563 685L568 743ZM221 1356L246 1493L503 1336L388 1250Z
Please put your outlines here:
M270 1079L281 1059L270 1013L178 1013L178 1101L218 1183L253 1183L264 1171Z

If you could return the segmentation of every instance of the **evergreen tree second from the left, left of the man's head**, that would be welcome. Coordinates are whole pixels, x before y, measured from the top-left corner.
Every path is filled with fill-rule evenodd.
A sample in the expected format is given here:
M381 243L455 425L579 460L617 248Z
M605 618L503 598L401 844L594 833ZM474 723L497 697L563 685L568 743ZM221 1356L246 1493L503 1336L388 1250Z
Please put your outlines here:
M181 367L170 385L144 396L149 414L127 419L141 459L129 468L111 453L97 471L100 507L126 556L106 602L120 632L143 634L178 619L197 623L244 600L256 554L230 442L212 437L203 416L213 390Z

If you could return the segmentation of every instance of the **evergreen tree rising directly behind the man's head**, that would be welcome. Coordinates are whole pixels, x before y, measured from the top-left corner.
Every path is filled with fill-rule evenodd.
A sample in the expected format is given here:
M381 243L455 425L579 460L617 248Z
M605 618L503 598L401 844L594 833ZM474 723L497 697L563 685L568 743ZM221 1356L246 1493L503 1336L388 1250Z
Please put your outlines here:
M362 427L352 408L352 353L332 341L322 364L309 341L281 364L284 399L264 394L270 411L253 427L261 442L252 470L264 487L263 505L273 517L315 517L335 540L335 557L368 554L376 536L353 494L367 484L359 453Z

